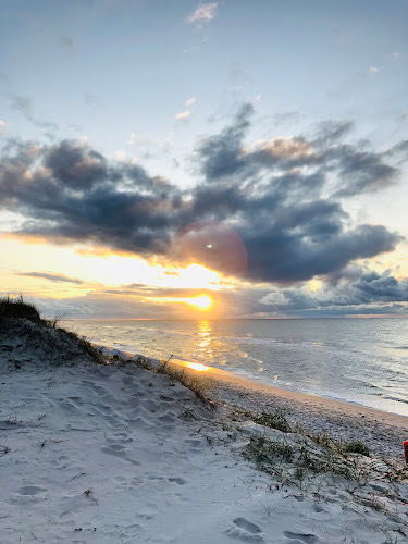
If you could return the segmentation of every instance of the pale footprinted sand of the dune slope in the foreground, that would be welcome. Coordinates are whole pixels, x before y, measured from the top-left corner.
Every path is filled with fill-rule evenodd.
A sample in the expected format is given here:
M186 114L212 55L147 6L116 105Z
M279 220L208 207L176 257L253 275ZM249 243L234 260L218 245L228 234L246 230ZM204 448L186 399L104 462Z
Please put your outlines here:
M282 485L242 450L295 435L232 421L133 363L63 359L0 338L1 544L408 542L408 485Z

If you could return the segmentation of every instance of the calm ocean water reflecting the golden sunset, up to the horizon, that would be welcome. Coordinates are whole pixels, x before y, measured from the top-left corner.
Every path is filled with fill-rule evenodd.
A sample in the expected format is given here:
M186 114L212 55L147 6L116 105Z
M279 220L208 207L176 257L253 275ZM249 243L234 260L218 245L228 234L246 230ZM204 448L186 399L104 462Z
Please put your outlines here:
M408 416L407 319L64 321L94 343Z

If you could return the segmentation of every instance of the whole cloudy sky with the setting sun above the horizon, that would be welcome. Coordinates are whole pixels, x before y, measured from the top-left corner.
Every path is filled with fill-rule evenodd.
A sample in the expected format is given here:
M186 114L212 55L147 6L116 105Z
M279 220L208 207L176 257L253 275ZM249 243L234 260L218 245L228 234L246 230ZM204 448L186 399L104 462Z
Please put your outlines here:
M0 0L0 295L408 316L406 0Z

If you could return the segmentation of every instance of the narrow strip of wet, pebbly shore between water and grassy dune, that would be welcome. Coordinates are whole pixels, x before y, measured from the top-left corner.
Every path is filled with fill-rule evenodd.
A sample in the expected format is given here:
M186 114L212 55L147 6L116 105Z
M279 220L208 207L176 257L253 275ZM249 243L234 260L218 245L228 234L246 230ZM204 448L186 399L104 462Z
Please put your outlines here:
M103 348L120 358L137 357L137 354L116 348ZM158 359L146 359L153 366L159 364ZM374 455L404 461L403 442L408 440L407 416L252 382L232 371L182 359L171 359L168 364L183 367L210 382L210 396L221 404L255 412L284 410L294 426L314 434L327 434L337 441L359 440L366 442Z

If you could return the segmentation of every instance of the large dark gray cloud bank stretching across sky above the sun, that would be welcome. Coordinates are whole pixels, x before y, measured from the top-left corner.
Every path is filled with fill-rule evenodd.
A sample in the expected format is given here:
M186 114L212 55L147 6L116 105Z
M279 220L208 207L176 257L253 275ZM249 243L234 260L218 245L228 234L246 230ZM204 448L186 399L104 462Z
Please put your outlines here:
M188 190L77 141L10 140L0 207L26 218L22 236L201 262L257 282L333 281L356 259L396 247L401 237L385 226L349 226L341 197L395 181L392 161L405 143L382 153L367 143L357 149L343 143L350 122L331 122L310 138L248 147L251 114L246 104L220 134L201 138L194 156L201 178Z

